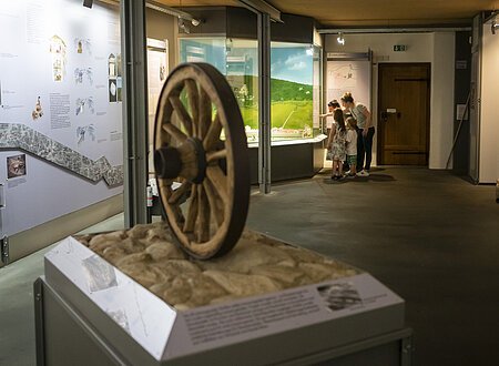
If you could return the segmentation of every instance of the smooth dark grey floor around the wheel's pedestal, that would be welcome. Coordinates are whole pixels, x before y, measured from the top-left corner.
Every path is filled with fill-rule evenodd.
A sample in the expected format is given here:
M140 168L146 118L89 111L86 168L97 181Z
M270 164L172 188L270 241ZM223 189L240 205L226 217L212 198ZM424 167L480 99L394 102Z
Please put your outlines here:
M369 272L407 302L415 365L499 359L499 204L445 171L377 169L253 191L248 227ZM90 231L118 230L118 216ZM34 364L32 283L47 250L0 268L0 365ZM368 325L366 325L368 326Z

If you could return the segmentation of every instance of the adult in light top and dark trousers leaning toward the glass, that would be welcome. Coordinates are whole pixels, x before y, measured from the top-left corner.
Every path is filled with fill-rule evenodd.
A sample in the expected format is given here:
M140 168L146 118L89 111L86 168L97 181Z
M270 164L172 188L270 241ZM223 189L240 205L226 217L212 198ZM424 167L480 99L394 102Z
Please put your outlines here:
M369 110L361 103L355 103L352 93L342 96L342 104L357 121L357 176L369 176L373 160L373 136L375 128Z

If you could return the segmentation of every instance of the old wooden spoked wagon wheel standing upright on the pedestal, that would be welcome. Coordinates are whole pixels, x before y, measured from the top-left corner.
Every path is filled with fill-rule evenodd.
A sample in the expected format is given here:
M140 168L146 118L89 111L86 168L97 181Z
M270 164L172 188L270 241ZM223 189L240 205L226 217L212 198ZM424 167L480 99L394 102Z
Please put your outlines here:
M249 161L237 101L214 67L184 63L169 75L157 104L154 167L181 247L202 260L227 253L246 222Z

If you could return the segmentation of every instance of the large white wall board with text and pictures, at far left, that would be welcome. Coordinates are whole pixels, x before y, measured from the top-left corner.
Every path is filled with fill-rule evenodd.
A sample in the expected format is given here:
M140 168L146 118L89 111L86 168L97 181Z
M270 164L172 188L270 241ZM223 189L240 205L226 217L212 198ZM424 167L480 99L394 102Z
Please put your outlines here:
M121 101L118 7L0 2L2 234L122 192Z

